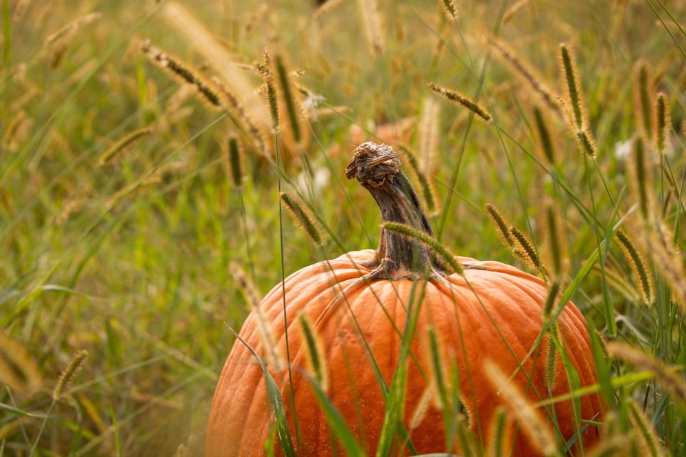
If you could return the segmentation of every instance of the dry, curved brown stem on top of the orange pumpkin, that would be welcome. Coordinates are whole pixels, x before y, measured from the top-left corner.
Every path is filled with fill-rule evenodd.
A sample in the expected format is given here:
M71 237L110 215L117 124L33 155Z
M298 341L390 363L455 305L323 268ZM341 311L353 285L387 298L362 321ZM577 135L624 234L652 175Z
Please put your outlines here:
M417 193L401 171L398 153L388 145L362 143L353 153L346 171L348 180L355 177L374 197L383 222L409 225L434 236ZM374 269L366 280L403 278L425 279L445 276L446 269L429 247L397 232L382 229L377 257L366 267Z

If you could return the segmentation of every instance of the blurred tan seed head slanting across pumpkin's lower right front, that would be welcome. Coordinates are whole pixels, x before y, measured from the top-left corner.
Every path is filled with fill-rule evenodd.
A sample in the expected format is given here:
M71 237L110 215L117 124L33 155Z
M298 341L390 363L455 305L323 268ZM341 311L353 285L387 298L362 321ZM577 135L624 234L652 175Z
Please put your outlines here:
M517 419L521 430L529 437L532 445L545 456L560 456L555 438L539 411L528 402L519 388L509 382L508 376L503 373L497 362L484 360L484 372L488 382L499 389L499 397L503 399L510 415Z

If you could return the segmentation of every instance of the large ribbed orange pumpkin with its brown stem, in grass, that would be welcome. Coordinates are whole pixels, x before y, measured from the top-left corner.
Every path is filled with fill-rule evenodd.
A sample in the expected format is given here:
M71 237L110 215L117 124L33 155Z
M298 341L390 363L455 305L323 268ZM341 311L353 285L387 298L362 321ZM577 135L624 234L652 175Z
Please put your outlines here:
M433 236L392 147L371 142L359 145L346 175L357 178L372 194L383 221L410 225ZM368 454L376 452L386 409L384 396L400 365L407 376L399 429L404 430L404 438L397 440L392 454L460 453L459 440L445 432L436 388L440 370L431 368L431 358L436 356L431 338L442 360L445 379L441 381L450 384L452 380L453 387L458 384L463 423L482 443L487 441L496 411L504 404L499 388L484 374L484 360L495 362L529 404L568 393L567 370L560 354L551 357L550 351L555 349L549 335L534 347L543 329L545 283L500 262L456 260L462 265L462 274L450 273L427 245L384 228L376 250L348 252L313 264L274 287L259 304L259 311L248 316L239 334L242 341L237 341L228 355L211 406L206 455L265 454L265 443L270 436L274 439L274 415L265 373L255 355L269 362L279 358L275 352L284 360L272 360L265 367L281 391L298 454L344 454L332 438L313 388L311 360L308 362L311 345L298 330L303 316L312 323L322 346L327 382L320 392ZM408 326L408 319L413 319L412 325ZM265 338L261 325L268 325L270 338ZM403 358L400 348L407 328L414 334L409 355ZM557 329L580 386L595 384L587 326L571 302L560 313ZM274 347L265 347L269 339ZM287 364L289 370L284 367ZM450 371L457 377L451 378ZM584 427L580 421L599 420L602 404L597 394L576 400L576 414L569 400L539 406L536 412L558 437L569 440L577 434L576 445L582 442L588 449L598 440L598 430ZM522 432L521 425L516 421L508 424L509 455L541 454L540 446ZM278 441L275 447L280 455Z

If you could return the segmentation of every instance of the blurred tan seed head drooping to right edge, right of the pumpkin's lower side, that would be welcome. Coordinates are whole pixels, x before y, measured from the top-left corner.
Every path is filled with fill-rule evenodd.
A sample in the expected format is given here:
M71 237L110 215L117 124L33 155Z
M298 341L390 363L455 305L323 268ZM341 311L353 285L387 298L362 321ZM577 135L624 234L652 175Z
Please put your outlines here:
M672 367L667 367L657 358L626 343L610 341L606 347L609 354L628 362L629 365L637 369L652 371L655 381L665 392L669 393L675 402L686 406L686 382Z

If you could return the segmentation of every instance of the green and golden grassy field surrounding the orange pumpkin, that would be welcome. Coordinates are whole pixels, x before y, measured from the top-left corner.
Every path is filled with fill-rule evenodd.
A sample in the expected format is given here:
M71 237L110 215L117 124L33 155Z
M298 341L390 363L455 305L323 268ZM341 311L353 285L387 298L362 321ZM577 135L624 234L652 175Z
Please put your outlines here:
M344 175L366 139L414 153L454 254L528 269L492 203L550 263L561 214L560 283L613 342L608 440L686 455L686 3L77 3L2 3L0 456L202 455L249 310L235 269L264 295L376 247ZM213 78L240 110L213 106Z

